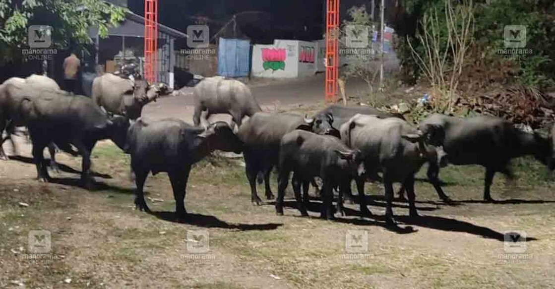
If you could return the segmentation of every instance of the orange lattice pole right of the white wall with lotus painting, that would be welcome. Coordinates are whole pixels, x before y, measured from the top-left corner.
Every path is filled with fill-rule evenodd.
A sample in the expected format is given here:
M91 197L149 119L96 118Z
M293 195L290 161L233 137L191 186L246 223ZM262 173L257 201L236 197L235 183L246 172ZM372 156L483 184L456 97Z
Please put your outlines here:
M326 103L337 100L339 77L339 1L327 0L326 12Z

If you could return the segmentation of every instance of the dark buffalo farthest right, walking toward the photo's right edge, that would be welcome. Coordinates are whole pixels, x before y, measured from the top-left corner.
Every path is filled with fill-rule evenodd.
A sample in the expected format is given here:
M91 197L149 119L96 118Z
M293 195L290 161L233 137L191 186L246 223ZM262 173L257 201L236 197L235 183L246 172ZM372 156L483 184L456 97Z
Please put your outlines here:
M419 125L423 133L436 131L449 163L454 165L481 165L486 168L483 198L493 201L490 187L496 172L509 178L513 174L509 168L511 159L533 155L543 164L552 164L553 139L538 133L527 133L514 128L512 123L493 116L459 118L442 114L432 114ZM553 165L551 165L553 166ZM439 168L430 164L428 178L441 199L450 201L441 189L438 179Z

